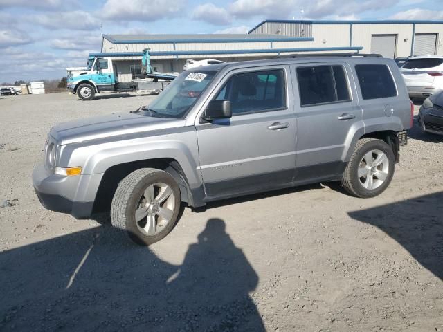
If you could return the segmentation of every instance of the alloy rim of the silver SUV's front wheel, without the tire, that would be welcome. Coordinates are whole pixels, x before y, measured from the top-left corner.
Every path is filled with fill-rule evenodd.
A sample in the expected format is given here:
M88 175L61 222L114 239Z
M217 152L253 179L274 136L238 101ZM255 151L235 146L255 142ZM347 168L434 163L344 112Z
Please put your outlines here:
M165 183L149 185L141 195L134 211L141 233L154 236L170 223L175 210L174 192Z

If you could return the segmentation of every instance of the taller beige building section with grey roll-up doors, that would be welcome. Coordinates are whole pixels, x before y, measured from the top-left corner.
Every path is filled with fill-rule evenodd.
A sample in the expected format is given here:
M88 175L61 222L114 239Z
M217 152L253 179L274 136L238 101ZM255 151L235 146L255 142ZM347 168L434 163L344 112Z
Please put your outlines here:
M266 20L252 35L312 37L307 47L361 46L384 57L443 55L443 21L287 21Z

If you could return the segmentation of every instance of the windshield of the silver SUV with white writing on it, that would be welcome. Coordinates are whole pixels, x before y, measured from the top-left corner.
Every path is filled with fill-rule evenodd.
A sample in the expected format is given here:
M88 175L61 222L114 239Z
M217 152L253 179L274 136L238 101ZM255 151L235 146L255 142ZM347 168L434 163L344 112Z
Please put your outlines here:
M148 107L152 116L184 118L217 71L181 73Z

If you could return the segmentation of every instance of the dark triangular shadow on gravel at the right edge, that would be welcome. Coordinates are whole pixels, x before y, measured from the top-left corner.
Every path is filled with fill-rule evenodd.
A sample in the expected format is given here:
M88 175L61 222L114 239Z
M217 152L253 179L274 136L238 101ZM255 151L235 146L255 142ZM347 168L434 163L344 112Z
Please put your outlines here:
M403 246L419 264L443 280L443 192L418 196L377 208L350 212L380 228Z

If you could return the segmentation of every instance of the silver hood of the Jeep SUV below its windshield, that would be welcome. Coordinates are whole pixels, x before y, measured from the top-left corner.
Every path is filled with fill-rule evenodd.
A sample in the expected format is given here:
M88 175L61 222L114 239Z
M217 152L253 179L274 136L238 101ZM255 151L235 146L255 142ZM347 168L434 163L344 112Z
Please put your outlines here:
M185 120L154 118L144 113L113 113L57 124L50 135L60 144L129 135L156 129L183 127Z

